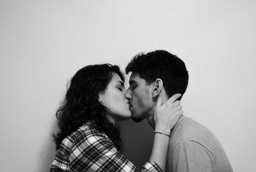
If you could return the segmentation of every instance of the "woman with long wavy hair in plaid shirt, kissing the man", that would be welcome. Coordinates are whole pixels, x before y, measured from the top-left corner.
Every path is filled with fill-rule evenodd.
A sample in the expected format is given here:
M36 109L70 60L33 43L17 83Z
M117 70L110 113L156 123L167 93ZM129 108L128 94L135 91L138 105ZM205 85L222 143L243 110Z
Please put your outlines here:
M176 104L168 109L170 106L160 106L161 97L157 100L155 131L160 134L154 136L150 160L138 169L120 153L122 143L116 121L131 117L124 94L124 76L118 66L89 65L77 71L56 113L60 132L53 134L57 153L50 171L161 171L165 168L168 135L182 113L181 107Z

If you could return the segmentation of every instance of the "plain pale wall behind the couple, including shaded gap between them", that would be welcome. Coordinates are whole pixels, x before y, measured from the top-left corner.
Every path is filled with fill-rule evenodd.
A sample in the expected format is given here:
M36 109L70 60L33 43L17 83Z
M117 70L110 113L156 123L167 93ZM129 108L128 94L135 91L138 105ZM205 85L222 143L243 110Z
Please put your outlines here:
M234 171L255 171L255 7L250 0L1 0L0 171L49 170L54 113L79 68L124 69L134 54L156 49L186 63L184 114L218 137ZM125 155L139 166L152 144L146 124L121 123Z

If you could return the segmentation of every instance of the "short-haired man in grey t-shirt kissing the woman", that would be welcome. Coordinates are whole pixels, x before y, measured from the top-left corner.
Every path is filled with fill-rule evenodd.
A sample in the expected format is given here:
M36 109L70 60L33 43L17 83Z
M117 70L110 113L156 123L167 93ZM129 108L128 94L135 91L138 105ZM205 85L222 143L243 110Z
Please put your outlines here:
M127 74L132 72L130 86L125 94L129 98L132 120L147 119L153 128L159 93L165 102L175 93L184 95L188 86L188 71L184 62L167 51L138 54L125 71ZM182 116L170 135L166 171L230 172L232 167L211 131L191 118Z

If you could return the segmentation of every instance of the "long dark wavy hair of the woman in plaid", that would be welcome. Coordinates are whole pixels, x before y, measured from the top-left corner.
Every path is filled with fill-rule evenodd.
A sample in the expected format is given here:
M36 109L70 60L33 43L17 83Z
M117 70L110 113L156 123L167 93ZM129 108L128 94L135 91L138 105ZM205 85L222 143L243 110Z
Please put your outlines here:
M56 150L65 137L84 125L88 120L95 122L97 130L104 132L114 143L117 150L122 147L120 130L108 120L109 109L100 104L98 98L108 87L113 72L122 81L124 75L116 65L88 65L76 72L68 84L66 96L56 112L60 131L52 134Z

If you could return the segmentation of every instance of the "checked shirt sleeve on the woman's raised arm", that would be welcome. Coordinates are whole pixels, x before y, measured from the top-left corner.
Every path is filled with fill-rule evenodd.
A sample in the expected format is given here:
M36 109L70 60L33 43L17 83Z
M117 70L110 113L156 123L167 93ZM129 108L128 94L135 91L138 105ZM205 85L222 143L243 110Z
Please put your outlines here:
M72 148L70 171L161 171L155 162L147 162L138 169L118 152L112 141L102 135L91 135Z

